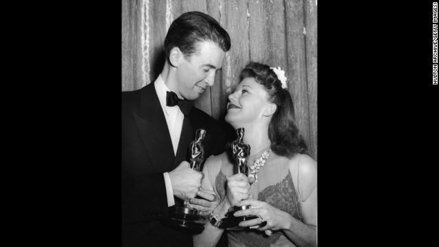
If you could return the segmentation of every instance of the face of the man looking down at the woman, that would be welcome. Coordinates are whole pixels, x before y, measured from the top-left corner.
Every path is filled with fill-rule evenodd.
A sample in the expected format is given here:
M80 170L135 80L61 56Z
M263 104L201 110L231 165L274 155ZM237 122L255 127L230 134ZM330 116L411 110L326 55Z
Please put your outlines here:
M195 100L213 86L215 73L222 69L224 52L213 41L198 43L198 49L189 58L182 59L176 74L176 93L185 99Z

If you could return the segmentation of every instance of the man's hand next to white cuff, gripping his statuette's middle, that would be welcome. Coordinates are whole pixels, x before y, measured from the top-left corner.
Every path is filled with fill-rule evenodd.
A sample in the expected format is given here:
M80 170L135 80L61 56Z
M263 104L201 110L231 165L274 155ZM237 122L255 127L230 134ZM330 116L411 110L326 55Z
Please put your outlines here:
M182 200L189 200L197 195L204 174L189 168L189 163L183 161L176 169L169 172L169 178L174 196Z

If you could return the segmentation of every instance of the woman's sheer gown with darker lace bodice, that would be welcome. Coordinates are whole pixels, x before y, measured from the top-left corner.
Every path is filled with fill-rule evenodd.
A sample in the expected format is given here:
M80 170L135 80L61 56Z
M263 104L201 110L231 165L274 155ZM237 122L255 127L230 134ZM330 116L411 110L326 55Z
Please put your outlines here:
M250 152L248 165L261 156L270 146L256 154ZM306 154L296 154L292 159L299 159ZM267 202L277 209L281 209L302 221L300 216L300 191L298 187L298 172L290 172L289 163L292 160L283 156L278 156L273 151L270 152L265 165L257 172L258 182L251 191L250 198ZM226 196L226 178L233 175L234 161L228 152L218 156L210 156L204 166L203 187L213 189L216 195L222 200ZM250 169L249 169L250 171ZM263 231L257 229L244 229L241 231L227 231L228 246L230 247L278 247L295 246L283 235L282 231L274 231L271 236L265 235Z

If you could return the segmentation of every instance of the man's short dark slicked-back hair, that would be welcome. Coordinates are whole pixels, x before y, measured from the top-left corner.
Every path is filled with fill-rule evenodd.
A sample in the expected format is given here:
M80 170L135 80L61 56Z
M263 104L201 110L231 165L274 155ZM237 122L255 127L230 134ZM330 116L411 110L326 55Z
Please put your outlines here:
M204 40L213 41L223 51L230 49L228 33L212 16L198 11L186 12L175 19L167 31L166 59L171 64L169 53L174 47L178 47L187 59L197 50L197 43Z

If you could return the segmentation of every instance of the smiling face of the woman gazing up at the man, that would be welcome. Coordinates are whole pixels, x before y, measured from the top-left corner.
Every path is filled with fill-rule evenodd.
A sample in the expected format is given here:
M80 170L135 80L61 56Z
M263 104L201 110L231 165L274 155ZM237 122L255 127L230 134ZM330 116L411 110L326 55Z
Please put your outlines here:
M248 126L264 115L267 92L254 78L242 80L235 92L228 95L226 121L234 128Z

